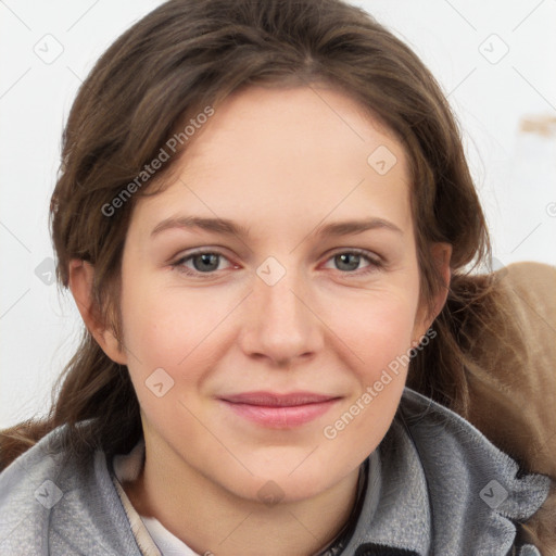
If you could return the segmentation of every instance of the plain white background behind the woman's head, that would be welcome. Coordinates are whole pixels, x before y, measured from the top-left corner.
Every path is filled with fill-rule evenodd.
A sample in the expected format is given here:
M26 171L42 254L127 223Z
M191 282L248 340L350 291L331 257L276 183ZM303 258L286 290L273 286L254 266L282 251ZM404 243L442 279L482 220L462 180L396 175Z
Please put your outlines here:
M46 412L81 330L71 295L45 282L53 256L48 207L73 99L102 52L160 3L0 2L0 428ZM448 96L494 266L555 265L556 0L352 3L409 43ZM61 54L45 63L41 49ZM543 132L521 129L536 118Z

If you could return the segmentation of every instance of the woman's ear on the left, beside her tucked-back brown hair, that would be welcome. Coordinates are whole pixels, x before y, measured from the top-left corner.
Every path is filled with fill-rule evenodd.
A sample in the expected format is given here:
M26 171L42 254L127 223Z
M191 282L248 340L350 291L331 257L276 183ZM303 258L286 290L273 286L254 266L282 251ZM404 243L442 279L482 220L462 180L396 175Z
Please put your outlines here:
M93 280L94 267L90 263L77 258L70 261L70 289L87 330L113 362L127 365L125 352L119 350L117 339L102 321L99 307L92 300Z

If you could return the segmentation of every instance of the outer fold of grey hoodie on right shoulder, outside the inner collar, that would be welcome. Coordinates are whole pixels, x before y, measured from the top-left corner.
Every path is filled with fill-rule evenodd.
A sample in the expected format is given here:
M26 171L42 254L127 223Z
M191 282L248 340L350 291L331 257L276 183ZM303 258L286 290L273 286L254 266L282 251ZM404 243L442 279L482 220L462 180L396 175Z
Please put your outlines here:
M394 435L409 438L422 467L435 553L507 554L514 522L538 511L551 479L523 473L471 424L413 390L395 422Z

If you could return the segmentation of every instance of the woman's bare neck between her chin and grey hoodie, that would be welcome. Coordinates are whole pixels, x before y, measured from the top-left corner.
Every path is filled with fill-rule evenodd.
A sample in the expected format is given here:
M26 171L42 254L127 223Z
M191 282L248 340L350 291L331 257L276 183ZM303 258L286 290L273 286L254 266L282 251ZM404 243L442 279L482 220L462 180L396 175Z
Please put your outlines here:
M356 502L358 468L311 498L265 505L146 448L144 467L124 484L126 494L141 516L156 518L198 554L258 556L264 546L267 556L314 555L337 536Z

